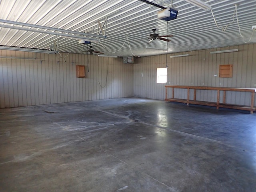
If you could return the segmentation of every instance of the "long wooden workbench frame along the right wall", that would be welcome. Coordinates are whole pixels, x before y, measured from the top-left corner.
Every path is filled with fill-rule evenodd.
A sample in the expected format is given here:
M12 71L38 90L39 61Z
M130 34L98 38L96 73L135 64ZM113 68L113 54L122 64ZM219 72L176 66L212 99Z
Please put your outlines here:
M168 98L168 88L172 88L172 97ZM187 99L174 98L174 89L187 89ZM194 90L194 99L190 100L190 90ZM217 100L216 102L207 102L207 101L198 101L196 100L196 90L216 90L217 91ZM220 103L220 91L223 91L223 102ZM250 92L251 93L251 102L250 106L226 104L226 92L227 91L237 91L237 92ZM165 86L165 100L170 102L182 102L189 104L198 104L206 106L216 106L216 108L231 108L239 110L248 110L251 114L256 110L254 106L254 97L255 97L256 88L227 88L227 87L206 87L206 86L179 86L179 85L166 85Z

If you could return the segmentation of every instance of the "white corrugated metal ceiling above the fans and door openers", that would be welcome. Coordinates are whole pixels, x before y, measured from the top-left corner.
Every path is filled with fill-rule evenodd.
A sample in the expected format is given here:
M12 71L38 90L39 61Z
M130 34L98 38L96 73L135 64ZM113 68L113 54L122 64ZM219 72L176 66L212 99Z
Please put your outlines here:
M166 53L145 49L146 46L164 49L168 47L168 53L174 53L256 42L256 32L253 33L252 30L252 26L256 25L256 0L204 0L212 6L218 26L221 27L232 22L234 4L239 4L237 15L240 32L236 14L234 22L222 32L216 27L211 11L202 10L184 0L150 1L164 7L173 3L173 8L178 10L177 19L169 22L158 20L156 12L161 9L139 0L1 0L0 19L97 34L98 20L103 24L107 16L107 38L99 38L101 44L93 42L92 46L94 50L104 52L105 55L115 56ZM160 35L172 34L174 37L168 44L161 40L147 44L153 28ZM78 44L75 39L0 28L2 46L50 49L57 39L60 52L87 53L87 45Z

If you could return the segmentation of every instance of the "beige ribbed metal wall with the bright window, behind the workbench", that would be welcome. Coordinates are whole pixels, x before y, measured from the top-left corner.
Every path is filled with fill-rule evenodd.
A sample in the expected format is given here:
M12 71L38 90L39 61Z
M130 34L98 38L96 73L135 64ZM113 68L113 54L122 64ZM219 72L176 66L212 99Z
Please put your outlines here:
M238 49L239 51L210 54L211 51L229 49ZM167 84L256 88L255 53L256 44L245 44L220 49L168 54ZM170 58L170 55L180 54L190 54L190 56ZM218 74L219 65L223 64L233 64L232 78L214 77L214 74ZM134 96L164 100L165 84L156 84L156 68L161 67L166 67L166 55L137 58L136 64L134 64ZM191 92L190 95L193 96L193 93ZM170 97L170 94L168 96ZM186 90L175 91L176 98L186 98L186 96ZM216 102L216 97L216 91L197 91L198 100ZM250 93L227 92L226 99L231 104L249 105ZM254 106L256 106L256 102Z

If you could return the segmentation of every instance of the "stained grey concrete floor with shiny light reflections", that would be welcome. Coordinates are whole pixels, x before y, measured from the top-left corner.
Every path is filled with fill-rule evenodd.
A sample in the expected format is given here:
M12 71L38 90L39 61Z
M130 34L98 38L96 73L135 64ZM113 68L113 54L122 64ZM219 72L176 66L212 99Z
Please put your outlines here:
M0 110L0 192L255 192L256 114L121 98Z

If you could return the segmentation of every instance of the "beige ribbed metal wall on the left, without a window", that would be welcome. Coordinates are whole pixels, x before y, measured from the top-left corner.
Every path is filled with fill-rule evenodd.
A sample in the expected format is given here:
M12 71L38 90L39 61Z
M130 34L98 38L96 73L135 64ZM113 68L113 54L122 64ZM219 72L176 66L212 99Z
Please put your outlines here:
M133 96L132 66L122 58L5 50L0 56L19 58L0 58L0 108ZM76 65L89 67L86 78L76 78Z

